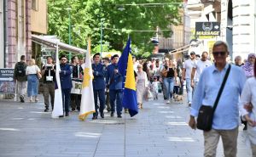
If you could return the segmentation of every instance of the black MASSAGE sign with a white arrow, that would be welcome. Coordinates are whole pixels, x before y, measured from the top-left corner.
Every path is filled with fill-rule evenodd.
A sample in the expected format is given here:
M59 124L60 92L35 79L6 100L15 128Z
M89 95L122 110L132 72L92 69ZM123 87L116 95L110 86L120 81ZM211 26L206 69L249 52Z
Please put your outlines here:
M195 22L195 36L220 36L220 23Z

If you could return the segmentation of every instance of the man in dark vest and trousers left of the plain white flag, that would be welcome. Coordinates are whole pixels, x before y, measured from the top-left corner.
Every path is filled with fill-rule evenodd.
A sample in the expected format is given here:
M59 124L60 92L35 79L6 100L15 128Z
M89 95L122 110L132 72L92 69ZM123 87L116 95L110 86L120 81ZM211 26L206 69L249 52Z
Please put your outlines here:
M42 76L44 79L44 112L49 111L49 96L51 109L54 108L55 103L55 64L51 56L47 57L47 63L42 67Z

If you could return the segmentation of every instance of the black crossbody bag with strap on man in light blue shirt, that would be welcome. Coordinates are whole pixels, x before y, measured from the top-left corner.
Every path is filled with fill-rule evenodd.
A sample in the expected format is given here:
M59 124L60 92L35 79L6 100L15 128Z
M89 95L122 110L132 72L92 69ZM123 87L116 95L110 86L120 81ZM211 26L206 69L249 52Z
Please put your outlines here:
M204 104L201 105L201 108L199 109L199 114L198 114L197 120L196 120L197 121L196 127L198 129L203 130L203 131L210 131L212 129L212 120L213 120L214 111L217 108L218 100L221 96L221 93L223 92L225 82L227 81L228 76L230 74L230 69L231 69L231 65L229 64L229 68L226 71L226 74L224 76L224 81L222 82L221 87L218 90L218 95L214 102L213 107L207 106Z

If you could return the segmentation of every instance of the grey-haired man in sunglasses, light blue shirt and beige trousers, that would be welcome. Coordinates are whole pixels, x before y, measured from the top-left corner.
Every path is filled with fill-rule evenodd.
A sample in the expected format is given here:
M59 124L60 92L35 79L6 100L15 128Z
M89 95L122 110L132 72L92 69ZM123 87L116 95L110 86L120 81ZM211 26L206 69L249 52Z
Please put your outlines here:
M200 81L195 88L189 120L189 126L193 129L195 129L195 117L198 115L201 105L213 107L218 90L229 67L229 64L226 62L229 52L225 42L215 42L212 54L215 64L202 72ZM236 157L239 125L238 100L245 81L246 76L241 68L231 65L230 75L213 115L212 130L204 132L204 156L216 156L218 140L219 137L222 137L224 156Z

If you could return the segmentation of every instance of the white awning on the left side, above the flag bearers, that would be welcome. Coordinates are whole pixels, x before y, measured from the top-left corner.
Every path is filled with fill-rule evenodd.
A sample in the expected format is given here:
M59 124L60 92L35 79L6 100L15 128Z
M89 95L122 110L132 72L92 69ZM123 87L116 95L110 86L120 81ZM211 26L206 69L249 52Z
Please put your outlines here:
M46 37L46 36L32 35L32 42L43 44L50 48L56 48L56 46L58 45L59 50L63 50L67 52L86 53L85 49L73 47L71 45L68 45L67 43L59 42L58 40L55 40L55 39L49 39L49 37Z

